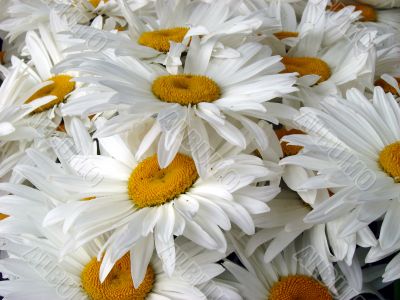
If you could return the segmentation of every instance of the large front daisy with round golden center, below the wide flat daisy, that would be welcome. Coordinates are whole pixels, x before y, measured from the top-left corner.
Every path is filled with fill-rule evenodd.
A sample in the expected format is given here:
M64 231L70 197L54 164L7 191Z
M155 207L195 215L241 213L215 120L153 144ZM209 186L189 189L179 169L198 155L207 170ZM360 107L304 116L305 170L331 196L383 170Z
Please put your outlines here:
M223 253L227 248L224 231L230 230L231 223L253 234L251 214L268 210L264 202L275 195L273 187L255 184L276 180L277 165L241 153L237 147L227 151L232 148L229 144L215 148L218 151L205 177L199 177L193 159L182 148L166 168L159 167L153 149L136 160L132 152L151 122L137 126L126 141L120 136L99 139L102 155L61 157L60 165L29 151L36 167L17 168L59 203L44 225L63 222L63 230L72 237L64 254L110 234L98 253L103 259L101 281L127 251L137 252L146 265L155 249L165 271L172 274L174 236L184 235ZM140 283L144 272L133 269L134 281Z

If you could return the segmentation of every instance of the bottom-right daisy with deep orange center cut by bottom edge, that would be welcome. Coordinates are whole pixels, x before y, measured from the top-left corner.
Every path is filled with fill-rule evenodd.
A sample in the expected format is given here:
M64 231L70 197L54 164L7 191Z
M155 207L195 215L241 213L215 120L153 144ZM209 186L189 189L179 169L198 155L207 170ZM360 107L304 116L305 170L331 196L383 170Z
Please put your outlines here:
M324 281L326 263L320 260L317 249L299 239L270 263L263 261L261 249L246 258L246 239L233 239L233 243L244 267L230 261L225 261L224 266L235 278L232 285L244 299L350 300L369 289L363 284L357 259L351 266L339 263L333 276Z

